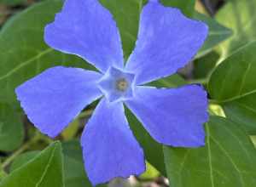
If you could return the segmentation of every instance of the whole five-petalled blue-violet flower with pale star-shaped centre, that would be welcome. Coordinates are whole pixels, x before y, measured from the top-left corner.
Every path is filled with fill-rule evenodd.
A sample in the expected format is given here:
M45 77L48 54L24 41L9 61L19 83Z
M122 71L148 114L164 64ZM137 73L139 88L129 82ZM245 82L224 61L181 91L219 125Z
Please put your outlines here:
M127 15L129 16L129 15ZM52 48L76 54L99 70L57 66L16 88L21 106L42 133L54 138L79 112L101 99L81 138L84 167L92 184L145 170L143 150L125 117L126 105L161 144L205 144L207 93L142 86L169 76L192 59L207 37L207 26L156 0L143 7L137 43L124 63L119 30L97 0L66 0L45 27Z

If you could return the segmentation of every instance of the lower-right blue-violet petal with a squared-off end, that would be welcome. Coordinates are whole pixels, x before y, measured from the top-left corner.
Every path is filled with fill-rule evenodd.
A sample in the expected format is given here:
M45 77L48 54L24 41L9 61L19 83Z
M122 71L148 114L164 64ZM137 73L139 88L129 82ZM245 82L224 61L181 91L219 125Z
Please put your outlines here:
M137 87L125 101L148 133L162 144L198 147L205 144L207 93L197 85L157 89Z

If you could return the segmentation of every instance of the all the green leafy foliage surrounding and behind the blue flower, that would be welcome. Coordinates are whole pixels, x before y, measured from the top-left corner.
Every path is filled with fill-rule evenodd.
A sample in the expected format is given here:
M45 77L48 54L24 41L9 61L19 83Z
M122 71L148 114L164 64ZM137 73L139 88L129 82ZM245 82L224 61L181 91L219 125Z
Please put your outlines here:
M146 0L100 1L118 23L127 58ZM210 28L207 42L187 67L151 83L168 88L204 85L211 114L205 124L207 145L199 149L162 146L126 110L145 151L147 171L109 185L255 187L256 0L161 2L181 8ZM14 93L20 83L55 65L92 68L83 59L61 54L44 43L44 26L61 4L61 0L0 0L0 187L90 186L79 137L95 104L84 109L60 136L49 139L27 120Z

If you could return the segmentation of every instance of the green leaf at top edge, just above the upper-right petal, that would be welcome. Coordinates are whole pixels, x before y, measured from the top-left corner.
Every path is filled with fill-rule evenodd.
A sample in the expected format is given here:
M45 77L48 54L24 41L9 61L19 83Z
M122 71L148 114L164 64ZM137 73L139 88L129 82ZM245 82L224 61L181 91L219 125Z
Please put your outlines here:
M195 11L195 0L161 0L161 3L168 7L179 8L189 17L192 17Z

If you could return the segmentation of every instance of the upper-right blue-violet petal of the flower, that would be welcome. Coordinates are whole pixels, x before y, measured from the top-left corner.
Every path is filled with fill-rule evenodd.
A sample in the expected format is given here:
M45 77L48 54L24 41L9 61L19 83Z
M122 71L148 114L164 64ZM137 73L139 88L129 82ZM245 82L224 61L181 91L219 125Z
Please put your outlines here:
M150 1L141 14L136 48L126 70L137 84L169 76L194 57L207 37L207 26L186 18L177 8Z

